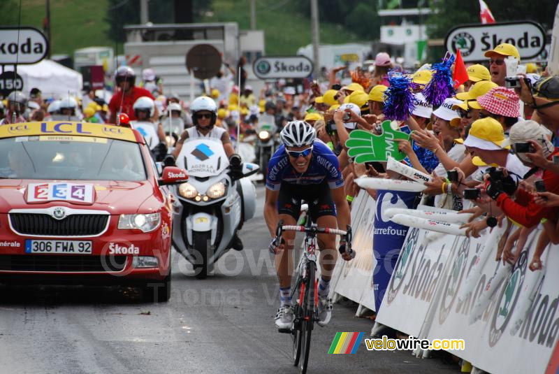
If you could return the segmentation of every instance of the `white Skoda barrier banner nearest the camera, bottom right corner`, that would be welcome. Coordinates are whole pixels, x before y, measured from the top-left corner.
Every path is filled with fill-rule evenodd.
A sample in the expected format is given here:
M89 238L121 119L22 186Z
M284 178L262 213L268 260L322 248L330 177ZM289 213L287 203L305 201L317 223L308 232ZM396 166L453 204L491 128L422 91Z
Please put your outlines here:
M472 271L481 243L468 238L458 240L453 256L448 282L442 287L440 303L435 306L435 317L428 337L460 337L465 340L465 350L453 352L458 357L470 361L472 365L490 373L544 373L551 353L559 337L559 276L555 271L559 266L559 247L548 247L542 258L546 271L543 282L534 289L530 302L530 290L525 289L538 272L530 271L528 264L535 251L536 241L542 231L533 231L521 251L516 265L507 271L507 276L493 285L495 292L488 300L481 318L470 324L470 315L479 299L486 296L491 278L498 275L502 262L495 261L495 240L487 243L484 250L491 251L481 271L475 273L472 292L462 303L453 299L465 284L468 271ZM488 236L482 237L488 240ZM483 243L483 241L482 241ZM524 308L524 304L528 308ZM520 310L528 310L525 316ZM519 328L515 322L521 320ZM514 359L511 359L514 357Z

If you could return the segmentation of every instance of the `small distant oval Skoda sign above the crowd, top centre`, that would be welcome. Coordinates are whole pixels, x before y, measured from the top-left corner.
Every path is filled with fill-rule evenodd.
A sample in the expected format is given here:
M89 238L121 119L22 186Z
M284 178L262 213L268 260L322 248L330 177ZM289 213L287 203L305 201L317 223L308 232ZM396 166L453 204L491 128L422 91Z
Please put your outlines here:
M305 56L259 57L252 66L260 79L307 78L312 69L312 62Z

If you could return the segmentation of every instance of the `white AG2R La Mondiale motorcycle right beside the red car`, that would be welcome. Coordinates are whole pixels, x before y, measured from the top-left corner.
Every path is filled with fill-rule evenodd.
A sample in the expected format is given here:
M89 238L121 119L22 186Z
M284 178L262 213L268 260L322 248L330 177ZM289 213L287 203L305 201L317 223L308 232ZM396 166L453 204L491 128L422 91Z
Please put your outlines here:
M256 188L247 177L259 167L233 161L230 165L222 142L211 138L185 141L175 161L190 179L175 187L173 245L199 279L212 272L238 229L254 217Z

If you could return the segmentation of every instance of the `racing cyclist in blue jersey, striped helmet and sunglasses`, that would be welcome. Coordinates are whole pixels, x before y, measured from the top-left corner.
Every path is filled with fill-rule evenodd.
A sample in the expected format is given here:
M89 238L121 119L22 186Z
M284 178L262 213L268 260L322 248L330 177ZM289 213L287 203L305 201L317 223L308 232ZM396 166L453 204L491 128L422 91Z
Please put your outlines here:
M273 240L270 252L277 254L275 266L279 279L281 304L275 317L278 329L290 329L293 322L291 308L291 273L293 272L294 231L284 231L282 244L275 245L277 222L296 224L301 200L309 205L308 214L318 226L336 226L342 230L350 224L349 206L344 194L344 180L335 154L326 144L316 138L316 131L305 121L286 124L279 134L281 145L268 164L266 171L266 202L264 218ZM332 301L328 299L330 279L337 259L335 236L319 234L319 322L325 326L332 317ZM340 240L340 252L346 261L351 255L344 252Z

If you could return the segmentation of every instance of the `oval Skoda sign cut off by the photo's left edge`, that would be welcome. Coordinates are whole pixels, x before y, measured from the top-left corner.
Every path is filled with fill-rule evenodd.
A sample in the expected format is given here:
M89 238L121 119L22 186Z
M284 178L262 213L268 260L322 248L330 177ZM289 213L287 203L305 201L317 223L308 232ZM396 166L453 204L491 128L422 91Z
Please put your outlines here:
M48 41L34 27L0 27L0 65L36 64L45 58Z

